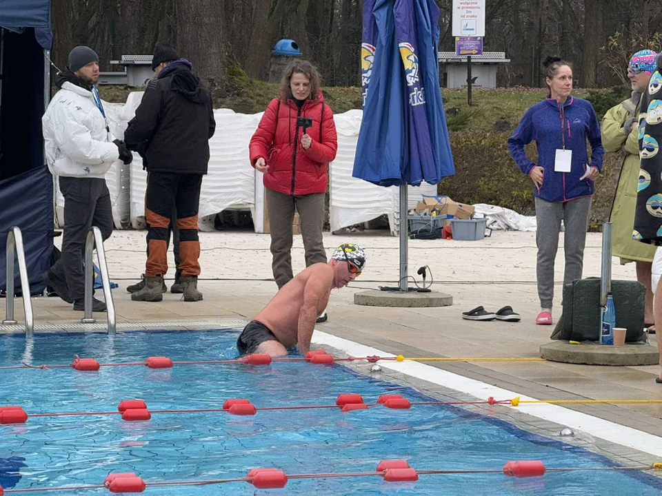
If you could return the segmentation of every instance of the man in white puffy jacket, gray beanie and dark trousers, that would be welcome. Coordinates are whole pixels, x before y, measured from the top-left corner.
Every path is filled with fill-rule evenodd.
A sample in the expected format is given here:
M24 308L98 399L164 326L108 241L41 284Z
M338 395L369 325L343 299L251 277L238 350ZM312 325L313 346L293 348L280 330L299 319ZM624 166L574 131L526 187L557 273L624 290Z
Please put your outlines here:
M58 176L64 196L62 256L45 274L48 285L74 310L84 309L83 250L90 227L97 226L106 240L112 233L110 194L104 174L118 159L128 164L132 154L113 140L106 113L94 86L99 80L99 56L86 46L69 54L67 70L55 82L53 96L41 118L46 158ZM106 311L94 298L93 311Z

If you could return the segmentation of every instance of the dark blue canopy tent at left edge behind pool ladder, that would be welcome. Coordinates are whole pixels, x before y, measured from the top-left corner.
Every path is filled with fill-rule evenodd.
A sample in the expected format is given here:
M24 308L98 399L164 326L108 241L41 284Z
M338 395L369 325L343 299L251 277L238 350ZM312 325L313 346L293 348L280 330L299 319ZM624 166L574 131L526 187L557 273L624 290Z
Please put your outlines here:
M0 292L10 227L23 231L30 292L53 254L53 182L41 116L50 101L50 0L2 0L0 8ZM20 293L18 271L14 287Z

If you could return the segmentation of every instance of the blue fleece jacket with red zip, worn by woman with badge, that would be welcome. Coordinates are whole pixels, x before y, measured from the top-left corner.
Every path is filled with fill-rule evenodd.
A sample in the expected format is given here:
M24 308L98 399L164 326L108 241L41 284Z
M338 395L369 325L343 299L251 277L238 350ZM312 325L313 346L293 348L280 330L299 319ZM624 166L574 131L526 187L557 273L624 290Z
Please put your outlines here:
M591 161L588 160L586 139L591 145ZM531 141L538 148L538 163L535 164L524 152ZM554 172L556 150L572 150L570 172ZM583 179L588 167L602 170L605 150L600 137L600 125L590 102L568 97L564 105L547 99L529 107L515 132L508 138L508 149L515 163L524 174L529 174L536 165L543 167L543 185L535 189L535 196L550 202L566 202L592 196L592 180Z

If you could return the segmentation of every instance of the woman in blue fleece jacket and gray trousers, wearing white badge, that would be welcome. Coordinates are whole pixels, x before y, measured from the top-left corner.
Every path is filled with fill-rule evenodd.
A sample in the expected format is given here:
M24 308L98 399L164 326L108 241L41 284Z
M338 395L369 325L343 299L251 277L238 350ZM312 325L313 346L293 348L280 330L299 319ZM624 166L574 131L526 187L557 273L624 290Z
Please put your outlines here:
M559 248L561 220L565 227L563 284L581 279L586 231L594 193L593 181L602 169L604 149L600 125L590 102L570 96L572 68L556 57L543 64L550 93L532 105L508 138L514 161L535 185L536 273L541 311L536 324L552 324L554 258ZM589 160L586 140L591 145ZM524 152L536 142L538 163Z

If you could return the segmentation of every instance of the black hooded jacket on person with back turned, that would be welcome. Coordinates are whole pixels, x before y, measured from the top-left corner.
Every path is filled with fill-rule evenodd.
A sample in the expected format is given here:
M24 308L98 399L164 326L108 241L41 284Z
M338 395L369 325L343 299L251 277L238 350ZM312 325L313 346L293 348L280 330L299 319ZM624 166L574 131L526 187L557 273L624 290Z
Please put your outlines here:
M124 142L143 152L149 172L207 174L216 122L212 99L188 62L166 66L129 122ZM141 153L142 154L142 153Z

